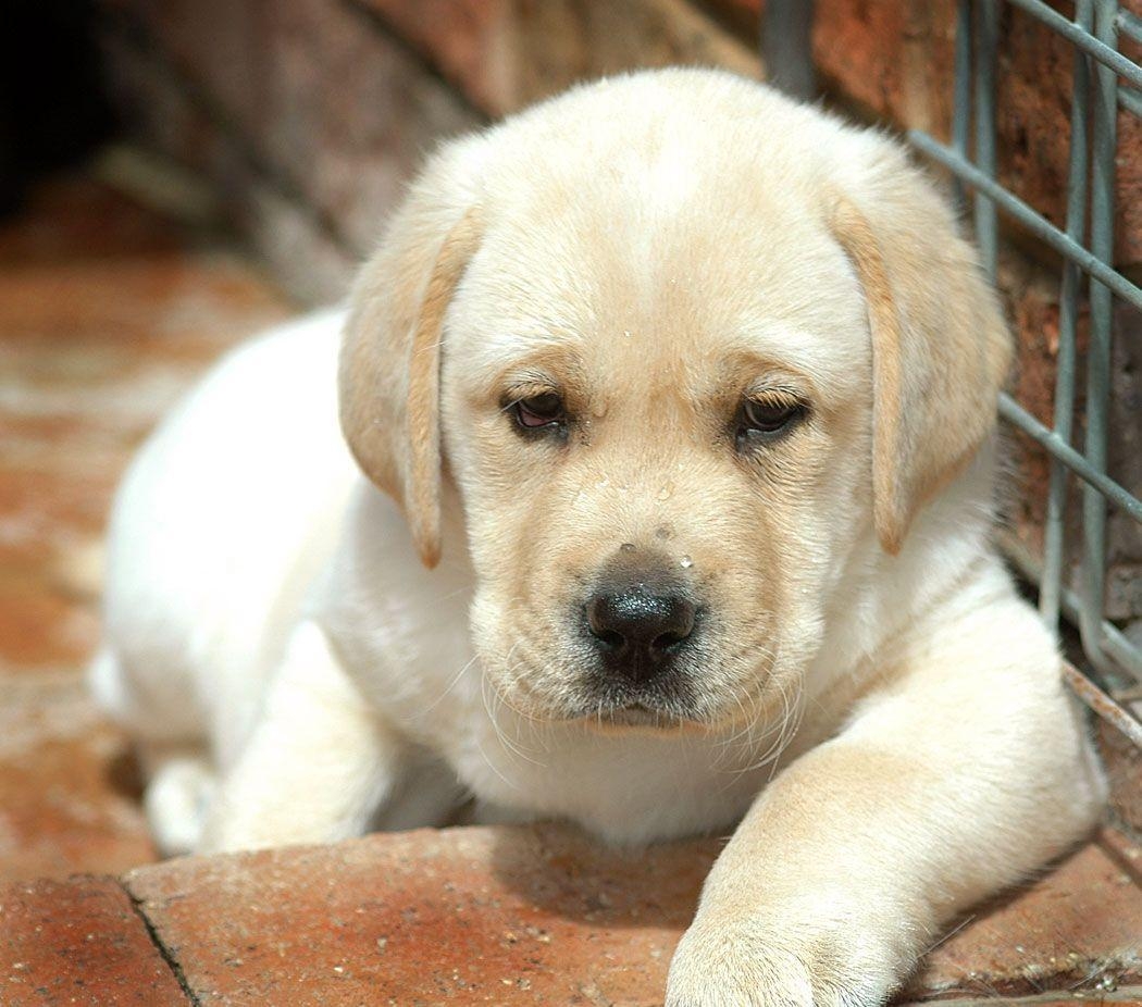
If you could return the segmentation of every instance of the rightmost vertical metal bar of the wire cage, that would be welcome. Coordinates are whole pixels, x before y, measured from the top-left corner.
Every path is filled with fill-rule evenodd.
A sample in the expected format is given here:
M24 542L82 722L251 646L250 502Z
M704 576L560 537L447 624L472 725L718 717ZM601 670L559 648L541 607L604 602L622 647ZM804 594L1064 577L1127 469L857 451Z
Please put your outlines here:
M1117 0L1095 0L1094 34L1117 48ZM1115 153L1118 142L1118 78L1101 64L1094 73L1091 171L1091 251L1108 265L1115 256ZM1086 446L1091 466L1107 469L1107 414L1113 300L1091 280L1091 345L1086 357ZM1107 675L1113 668L1102 648L1102 606L1107 574L1107 501L1092 486L1083 490L1083 610L1079 630L1091 663Z

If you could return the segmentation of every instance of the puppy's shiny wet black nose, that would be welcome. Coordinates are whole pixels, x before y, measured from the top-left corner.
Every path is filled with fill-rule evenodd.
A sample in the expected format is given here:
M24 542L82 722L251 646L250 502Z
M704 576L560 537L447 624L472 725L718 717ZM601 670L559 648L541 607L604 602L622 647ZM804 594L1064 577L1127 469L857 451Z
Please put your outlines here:
M608 669L645 682L657 675L694 628L693 602L677 590L635 583L601 590L587 602L587 626Z

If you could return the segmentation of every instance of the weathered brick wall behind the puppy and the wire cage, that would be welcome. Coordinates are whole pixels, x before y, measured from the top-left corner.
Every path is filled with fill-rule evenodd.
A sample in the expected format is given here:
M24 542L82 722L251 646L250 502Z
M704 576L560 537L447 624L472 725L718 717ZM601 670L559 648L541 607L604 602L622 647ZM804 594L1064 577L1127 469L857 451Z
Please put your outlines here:
M636 66L713 64L761 76L762 3L103 0L102 9L124 120L208 177L279 277L315 300L341 293L439 137ZM1142 13L1142 0L1128 6ZM818 0L813 49L830 100L947 138L954 26L954 0ZM1071 48L1010 6L1002 37L1000 179L1062 224ZM1142 272L1142 122L1124 113L1119 132L1117 259ZM1006 237L1002 279L1020 339L1014 389L1049 422L1059 263L1018 228ZM1123 312L1119 327L1111 464L1120 482L1140 486L1140 321ZM1013 458L1012 524L1037 553L1047 461L1029 442L1015 443ZM1140 620L1142 534L1113 515L1110 534L1108 611Z

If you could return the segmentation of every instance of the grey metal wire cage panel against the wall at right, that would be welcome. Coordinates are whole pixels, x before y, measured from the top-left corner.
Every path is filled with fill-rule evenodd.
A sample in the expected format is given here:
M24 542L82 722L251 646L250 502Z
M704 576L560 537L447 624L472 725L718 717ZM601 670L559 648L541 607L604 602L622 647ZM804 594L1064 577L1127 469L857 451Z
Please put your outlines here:
M996 72L1005 3L1020 8L1073 46L1063 229L996 179ZM815 90L812 8L811 0L770 0L763 30L771 80L805 98ZM1139 692L1142 650L1104 614L1108 507L1142 523L1142 500L1107 472L1115 300L1142 311L1142 289L1113 265L1117 113L1121 107L1142 116L1142 67L1118 51L1119 35L1142 43L1142 18L1120 10L1117 0L1073 0L1072 19L1043 0L959 0L951 143L941 143L918 129L908 130L906 137L916 151L950 172L960 204L971 209L975 240L992 280L998 266L1000 215L1062 257L1053 425L1044 426L1006 393L999 400L1000 416L1042 445L1051 459L1043 555L1008 551L1021 572L1038 583L1044 620L1055 628L1063 615L1078 628L1083 654L1097 680L1068 666L1068 683L1095 712L1142 747L1142 723L1116 700ZM1075 403L1084 285L1089 337L1079 444ZM1081 558L1073 589L1064 578L1071 476L1081 483Z

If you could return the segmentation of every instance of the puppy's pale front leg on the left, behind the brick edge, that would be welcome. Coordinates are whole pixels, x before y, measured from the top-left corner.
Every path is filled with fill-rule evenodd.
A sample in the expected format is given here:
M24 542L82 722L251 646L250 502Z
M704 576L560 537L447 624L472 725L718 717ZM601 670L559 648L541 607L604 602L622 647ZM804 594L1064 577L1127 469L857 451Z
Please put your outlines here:
M340 667L323 630L303 622L223 780L199 852L361 835L396 786L404 749Z

